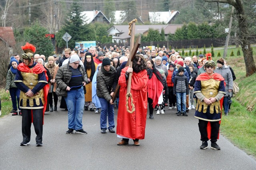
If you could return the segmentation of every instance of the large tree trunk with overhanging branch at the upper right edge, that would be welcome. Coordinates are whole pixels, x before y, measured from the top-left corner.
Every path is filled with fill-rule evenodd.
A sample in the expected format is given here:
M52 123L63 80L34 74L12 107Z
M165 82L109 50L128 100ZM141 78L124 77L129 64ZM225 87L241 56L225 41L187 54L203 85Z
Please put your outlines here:
M246 76L250 76L256 72L256 66L254 63L252 48L250 45L250 34L248 31L248 18L244 11L244 6L242 4L242 0L204 0L205 2L219 2L226 3L234 6L236 12L235 16L238 20L238 27L240 30L238 40L240 41L242 51L244 54L244 61L246 63Z

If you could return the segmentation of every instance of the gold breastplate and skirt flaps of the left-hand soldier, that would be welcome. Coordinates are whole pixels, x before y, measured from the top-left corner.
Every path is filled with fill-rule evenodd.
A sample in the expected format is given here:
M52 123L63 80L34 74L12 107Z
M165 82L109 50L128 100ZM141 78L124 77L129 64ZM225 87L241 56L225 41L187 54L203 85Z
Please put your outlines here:
M33 89L36 84L38 83L38 74L30 73L30 72L21 72L22 78L23 78L23 83L28 86L28 88ZM34 95L32 97L26 96L25 92L20 91L20 99L22 99L22 106L27 105L27 100L29 100L29 106L33 107L34 102L33 100L36 100L36 105L40 105L40 100L42 100L42 103L44 104L44 89L41 89L38 92L38 95Z

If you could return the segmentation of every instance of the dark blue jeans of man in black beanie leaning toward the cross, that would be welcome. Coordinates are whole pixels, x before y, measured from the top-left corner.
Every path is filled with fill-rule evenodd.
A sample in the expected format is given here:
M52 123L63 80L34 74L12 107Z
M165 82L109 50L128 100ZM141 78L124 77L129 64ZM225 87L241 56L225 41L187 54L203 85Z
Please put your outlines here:
M101 105L100 112L100 129L107 129L107 116L108 116L108 129L115 127L114 121L114 105L110 104L105 98L99 98Z

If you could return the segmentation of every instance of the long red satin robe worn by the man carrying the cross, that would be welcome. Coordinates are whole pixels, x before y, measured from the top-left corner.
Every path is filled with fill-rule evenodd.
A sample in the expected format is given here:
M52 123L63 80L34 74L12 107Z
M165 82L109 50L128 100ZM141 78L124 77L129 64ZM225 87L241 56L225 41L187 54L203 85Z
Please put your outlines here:
M126 94L128 80L125 78L125 72L128 66L122 69L118 80L120 85L119 107L117 114L116 134L130 139L144 139L147 117L147 82L148 75L146 70L132 73L131 93L135 111L128 113L126 111ZM129 110L131 110L131 100L129 98Z

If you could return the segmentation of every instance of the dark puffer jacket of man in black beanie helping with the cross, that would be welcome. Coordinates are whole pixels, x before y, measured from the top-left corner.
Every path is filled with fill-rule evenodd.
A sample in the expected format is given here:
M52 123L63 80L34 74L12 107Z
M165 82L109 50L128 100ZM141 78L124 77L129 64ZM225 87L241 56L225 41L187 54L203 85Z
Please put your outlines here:
M114 66L111 66L109 71L106 71L102 66L97 74L96 93L99 98L105 98L108 102L110 102L112 99L110 93L115 91L113 88L115 77L116 69Z

